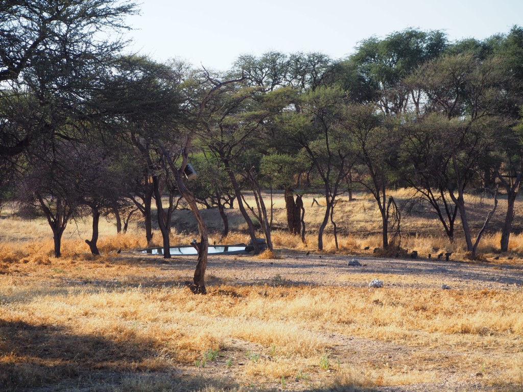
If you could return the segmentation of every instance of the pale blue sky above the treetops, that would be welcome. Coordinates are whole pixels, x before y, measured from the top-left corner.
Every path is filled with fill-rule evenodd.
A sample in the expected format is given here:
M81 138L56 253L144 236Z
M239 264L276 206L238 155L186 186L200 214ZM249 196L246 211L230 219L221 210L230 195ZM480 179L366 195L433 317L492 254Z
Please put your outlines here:
M140 2L140 0L137 0ZM484 39L523 25L523 0L142 0L132 49L157 61L227 70L241 54L322 52L340 59L405 28Z

